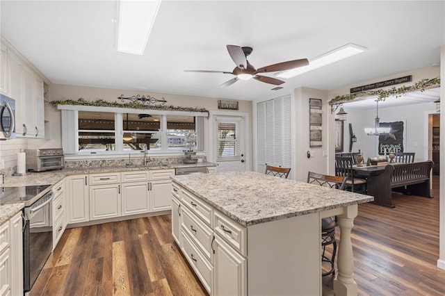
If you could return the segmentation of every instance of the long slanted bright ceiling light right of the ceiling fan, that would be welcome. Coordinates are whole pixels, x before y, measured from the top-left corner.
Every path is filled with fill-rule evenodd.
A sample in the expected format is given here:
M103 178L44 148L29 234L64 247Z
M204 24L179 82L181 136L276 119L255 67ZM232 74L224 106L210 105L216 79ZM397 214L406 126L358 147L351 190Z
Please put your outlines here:
M365 47L361 47L357 44L349 43L349 44L344 45L343 47L339 47L338 49L329 51L326 54L322 54L321 56L317 56L316 58L309 59L309 65L307 65L307 66L298 67L295 69L290 69L287 71L279 72L275 76L280 77L280 78L295 77L297 75L312 71L313 69L317 69L319 67L323 67L325 65L335 63L338 60L343 60L350 56L360 54L365 50L366 50Z

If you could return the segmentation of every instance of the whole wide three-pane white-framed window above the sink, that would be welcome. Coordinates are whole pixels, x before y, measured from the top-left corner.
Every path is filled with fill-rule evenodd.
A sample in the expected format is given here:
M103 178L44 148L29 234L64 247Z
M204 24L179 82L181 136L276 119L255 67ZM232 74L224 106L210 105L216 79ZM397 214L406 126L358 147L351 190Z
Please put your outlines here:
M204 148L207 113L136 109L122 113L120 108L109 109L115 112L100 112L90 106L62 109L65 154L122 154L145 149L162 154Z

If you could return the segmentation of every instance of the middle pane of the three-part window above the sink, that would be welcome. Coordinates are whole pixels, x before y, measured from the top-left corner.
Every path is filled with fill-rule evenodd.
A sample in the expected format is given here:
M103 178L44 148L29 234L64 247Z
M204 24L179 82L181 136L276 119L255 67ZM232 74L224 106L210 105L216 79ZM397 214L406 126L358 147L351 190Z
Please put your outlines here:
M122 126L124 151L143 150L145 145L149 150L161 149L161 115L124 113Z

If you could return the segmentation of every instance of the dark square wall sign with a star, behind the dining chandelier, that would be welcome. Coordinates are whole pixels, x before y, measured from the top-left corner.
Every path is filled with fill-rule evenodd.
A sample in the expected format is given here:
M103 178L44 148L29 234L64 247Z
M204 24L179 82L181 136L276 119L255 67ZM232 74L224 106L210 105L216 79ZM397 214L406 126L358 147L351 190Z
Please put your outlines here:
M378 154L385 155L390 152L403 152L405 142L405 122L380 122L380 127L390 127L391 131L386 135L378 136Z

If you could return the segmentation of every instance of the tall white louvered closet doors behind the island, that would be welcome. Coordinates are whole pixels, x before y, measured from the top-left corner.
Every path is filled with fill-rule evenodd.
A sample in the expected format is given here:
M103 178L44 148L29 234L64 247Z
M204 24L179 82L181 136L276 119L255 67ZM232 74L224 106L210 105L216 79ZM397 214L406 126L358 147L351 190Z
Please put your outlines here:
M280 97L257 104L257 172L266 170L266 163L278 167L291 167L291 96Z

